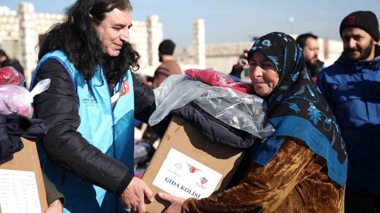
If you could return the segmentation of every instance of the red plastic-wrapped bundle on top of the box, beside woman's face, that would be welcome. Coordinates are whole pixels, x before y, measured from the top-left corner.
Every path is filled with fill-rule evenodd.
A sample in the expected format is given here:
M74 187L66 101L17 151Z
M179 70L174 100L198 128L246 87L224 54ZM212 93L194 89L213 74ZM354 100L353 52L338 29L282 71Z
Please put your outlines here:
M216 70L187 69L185 70L185 74L196 80L201 80L203 83L211 86L230 87L247 94L256 94L251 82L242 81L241 79L236 78L232 75L228 75Z

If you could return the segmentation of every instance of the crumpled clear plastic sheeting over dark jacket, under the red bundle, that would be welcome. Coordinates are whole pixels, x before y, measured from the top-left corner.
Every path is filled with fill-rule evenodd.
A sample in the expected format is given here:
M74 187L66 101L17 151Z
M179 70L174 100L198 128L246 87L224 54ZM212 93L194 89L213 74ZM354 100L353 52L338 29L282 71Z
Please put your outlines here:
M156 125L171 110L194 102L207 113L231 127L266 138L274 128L266 124L266 102L255 96L228 87L210 86L188 75L171 75L154 89L156 110L149 125Z

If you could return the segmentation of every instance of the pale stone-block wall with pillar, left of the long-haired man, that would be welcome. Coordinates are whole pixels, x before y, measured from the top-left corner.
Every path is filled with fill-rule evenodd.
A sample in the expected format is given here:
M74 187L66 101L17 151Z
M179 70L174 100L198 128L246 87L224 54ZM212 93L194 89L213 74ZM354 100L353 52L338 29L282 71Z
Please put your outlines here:
M63 16L59 14L35 13L32 3L19 4L18 11L11 11L6 6L1 7L1 49L9 58L19 60L21 66L24 67L25 78L28 78L29 82L32 70L37 65L38 49L35 47L39 39L52 24L62 19Z

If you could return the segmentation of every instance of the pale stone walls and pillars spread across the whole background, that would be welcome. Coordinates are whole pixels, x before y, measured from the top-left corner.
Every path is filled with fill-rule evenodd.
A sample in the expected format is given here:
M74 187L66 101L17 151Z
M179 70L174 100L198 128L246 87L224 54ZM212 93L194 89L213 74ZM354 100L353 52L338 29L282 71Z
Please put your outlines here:
M63 20L61 14L35 13L32 3L20 3L17 11L0 6L0 48L9 58L17 59L24 67L29 85L32 73L38 62L39 49L36 47L43 34L54 24ZM141 55L141 69L138 72L153 76L158 61L158 45L163 41L163 25L157 15L148 16L145 21L132 21L130 40ZM244 49L249 49L254 41L206 44L205 22L193 22L193 44L186 49L176 48L174 60L182 69L215 69L225 73L231 71ZM292 34L293 38L298 35ZM176 41L174 41L176 42ZM320 54L318 58L331 65L343 51L342 41L318 38ZM247 69L242 73L249 80Z

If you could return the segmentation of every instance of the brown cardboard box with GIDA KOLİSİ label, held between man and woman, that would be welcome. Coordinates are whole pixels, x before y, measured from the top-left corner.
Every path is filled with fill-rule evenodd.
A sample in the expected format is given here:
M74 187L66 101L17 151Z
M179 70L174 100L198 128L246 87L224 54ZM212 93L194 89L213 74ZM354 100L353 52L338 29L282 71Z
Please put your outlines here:
M210 195L202 194L204 191L211 190L212 194L224 191L243 155L243 150L207 140L195 127L174 116L142 177L154 194L154 202L146 205L146 210L160 213L168 207L157 196L159 192L199 199Z

